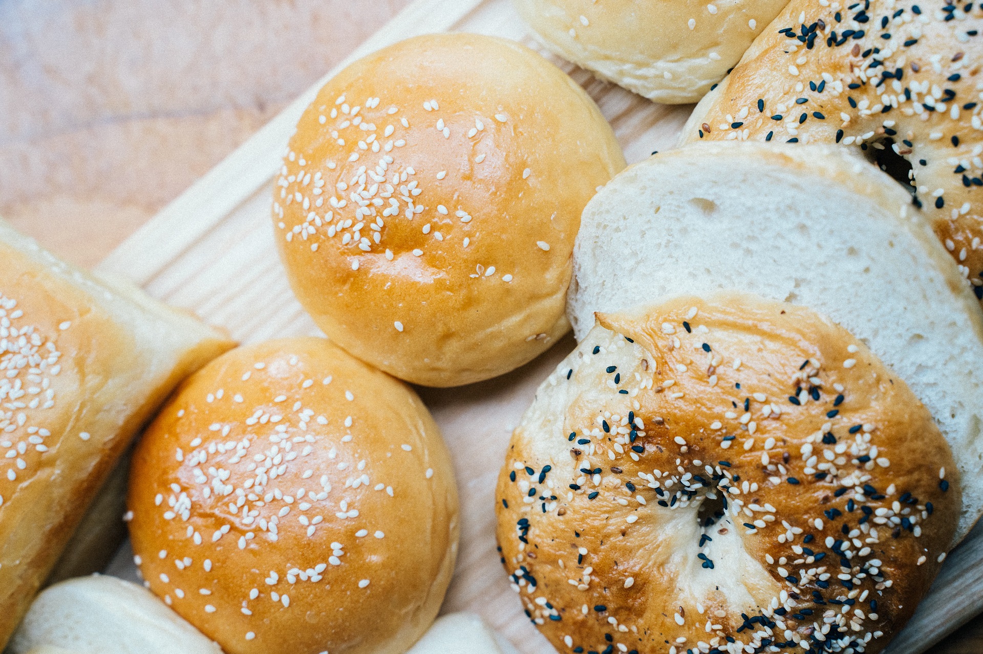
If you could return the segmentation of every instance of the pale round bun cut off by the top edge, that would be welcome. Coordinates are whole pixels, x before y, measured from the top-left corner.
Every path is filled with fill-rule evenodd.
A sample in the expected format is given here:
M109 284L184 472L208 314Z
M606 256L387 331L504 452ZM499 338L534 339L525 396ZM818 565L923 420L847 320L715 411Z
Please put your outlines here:
M785 0L512 0L564 59L656 102L703 97Z

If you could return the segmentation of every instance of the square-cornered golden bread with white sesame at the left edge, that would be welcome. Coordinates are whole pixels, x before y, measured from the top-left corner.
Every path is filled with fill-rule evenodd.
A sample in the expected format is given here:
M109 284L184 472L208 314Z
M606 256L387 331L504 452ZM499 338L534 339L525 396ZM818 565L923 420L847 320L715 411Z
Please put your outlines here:
M3 221L0 261L2 646L133 436L232 343Z

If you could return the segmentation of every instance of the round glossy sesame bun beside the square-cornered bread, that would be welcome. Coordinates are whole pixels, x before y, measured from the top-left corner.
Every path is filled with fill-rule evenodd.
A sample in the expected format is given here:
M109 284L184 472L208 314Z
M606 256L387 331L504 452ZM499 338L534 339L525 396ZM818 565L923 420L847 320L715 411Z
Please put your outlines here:
M457 491L405 385L317 338L192 376L133 459L150 590L226 654L402 654L454 569Z

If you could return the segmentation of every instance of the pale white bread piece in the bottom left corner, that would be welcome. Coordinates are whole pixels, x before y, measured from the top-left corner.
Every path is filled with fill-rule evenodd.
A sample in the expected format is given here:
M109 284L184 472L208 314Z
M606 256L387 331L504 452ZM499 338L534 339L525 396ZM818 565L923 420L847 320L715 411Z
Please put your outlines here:
M145 588L93 574L55 584L30 605L9 654L221 654Z

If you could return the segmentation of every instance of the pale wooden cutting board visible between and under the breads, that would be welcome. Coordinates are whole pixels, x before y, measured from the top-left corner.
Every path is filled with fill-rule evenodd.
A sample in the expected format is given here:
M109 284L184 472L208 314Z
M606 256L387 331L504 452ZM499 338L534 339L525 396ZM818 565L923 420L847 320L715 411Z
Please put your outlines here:
M504 36L541 49L525 33L508 0L417 0L347 61L410 36L445 30ZM692 108L653 104L550 59L594 97L629 163L670 147ZM318 334L290 292L272 240L269 204L287 139L320 85L332 75L334 71L158 213L96 270L128 277L150 295L191 309L246 343ZM461 494L460 555L443 611L483 615L524 654L553 650L523 615L498 562L494 483L512 428L532 402L540 381L573 346L568 336L528 365L480 384L419 389L443 430ZM983 527L978 527L950 555L931 594L891 651L924 651L981 608Z

